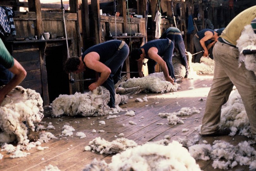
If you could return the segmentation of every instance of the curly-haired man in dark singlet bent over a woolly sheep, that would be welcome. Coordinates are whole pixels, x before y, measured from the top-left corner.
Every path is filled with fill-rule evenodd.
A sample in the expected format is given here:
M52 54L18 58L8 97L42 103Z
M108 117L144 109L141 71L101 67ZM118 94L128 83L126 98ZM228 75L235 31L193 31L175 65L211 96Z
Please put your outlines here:
M110 40L88 48L80 57L69 58L64 66L67 73L80 73L86 68L100 73L99 79L89 85L93 91L98 86L104 86L110 92L108 105L115 107L114 85L121 78L123 63L129 54L128 45L121 40Z

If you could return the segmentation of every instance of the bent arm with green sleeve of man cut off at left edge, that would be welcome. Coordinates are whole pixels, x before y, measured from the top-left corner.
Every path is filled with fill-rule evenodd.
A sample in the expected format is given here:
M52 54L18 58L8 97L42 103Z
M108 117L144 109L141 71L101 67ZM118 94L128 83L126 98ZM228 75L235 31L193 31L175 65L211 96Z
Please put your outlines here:
M2 64L6 69L11 71L15 76L7 83L2 89L0 89L0 104L2 103L5 95L7 95L13 88L21 83L21 81L26 77L27 72L21 66L21 64L15 60L6 47L3 41L0 39L0 64Z

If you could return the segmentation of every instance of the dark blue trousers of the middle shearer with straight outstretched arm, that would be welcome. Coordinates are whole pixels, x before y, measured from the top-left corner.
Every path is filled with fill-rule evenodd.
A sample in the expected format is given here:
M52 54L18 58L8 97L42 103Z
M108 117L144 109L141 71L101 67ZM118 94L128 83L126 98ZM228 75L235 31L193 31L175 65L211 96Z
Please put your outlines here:
M172 61L172 59L173 59L173 50L174 50L174 43L171 41L171 43L169 44L168 48L165 51L165 54L163 55L163 60L166 62L168 72L169 72L169 76L171 76L172 78L175 79L173 61ZM155 73L156 62L154 60L149 59L147 64L148 64L149 74Z

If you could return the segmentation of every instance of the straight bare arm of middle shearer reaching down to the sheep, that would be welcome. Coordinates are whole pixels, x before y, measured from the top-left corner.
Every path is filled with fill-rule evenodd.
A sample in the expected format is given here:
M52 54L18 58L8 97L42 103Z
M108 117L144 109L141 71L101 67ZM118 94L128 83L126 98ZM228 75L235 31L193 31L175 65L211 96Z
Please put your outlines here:
M149 58L152 60L155 60L155 62L157 62L161 66L165 80L171 83L174 83L174 80L169 76L168 68L165 61L157 54L157 52L158 52L157 48L155 47L150 48L148 51Z

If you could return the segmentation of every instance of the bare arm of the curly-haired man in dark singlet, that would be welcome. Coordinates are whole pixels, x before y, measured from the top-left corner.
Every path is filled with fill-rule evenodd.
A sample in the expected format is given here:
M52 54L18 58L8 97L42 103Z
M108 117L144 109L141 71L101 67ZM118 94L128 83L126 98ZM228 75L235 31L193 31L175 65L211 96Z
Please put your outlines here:
M101 77L99 77L95 83L89 85L90 91L93 91L95 88L102 85L111 73L110 68L100 62L99 59L99 54L96 52L91 52L84 57L84 62L88 68L101 73Z

